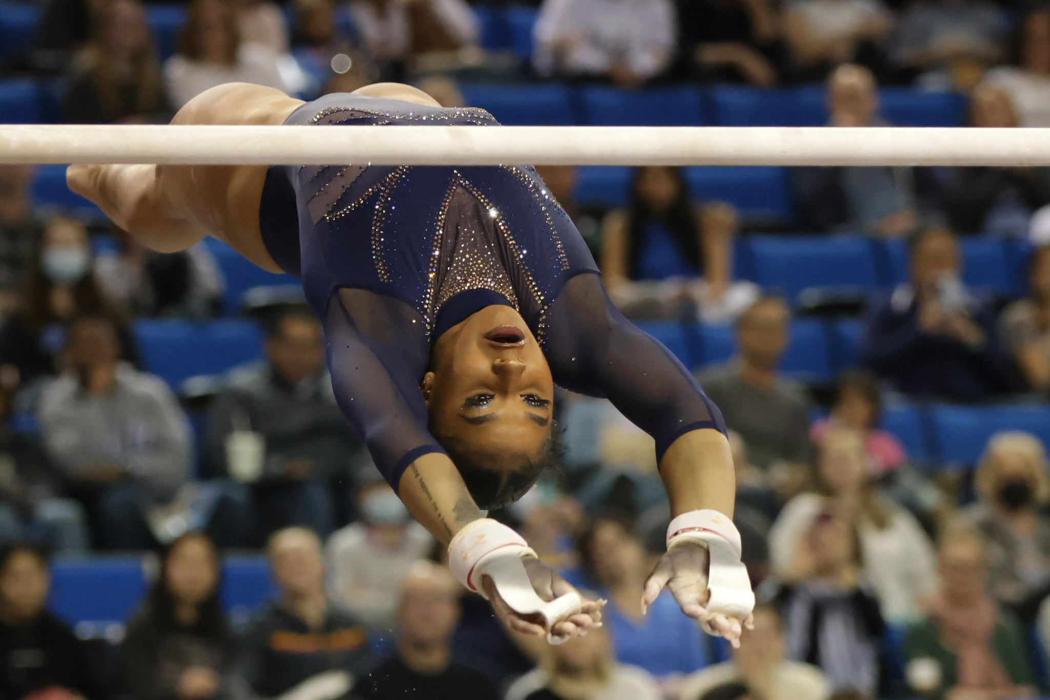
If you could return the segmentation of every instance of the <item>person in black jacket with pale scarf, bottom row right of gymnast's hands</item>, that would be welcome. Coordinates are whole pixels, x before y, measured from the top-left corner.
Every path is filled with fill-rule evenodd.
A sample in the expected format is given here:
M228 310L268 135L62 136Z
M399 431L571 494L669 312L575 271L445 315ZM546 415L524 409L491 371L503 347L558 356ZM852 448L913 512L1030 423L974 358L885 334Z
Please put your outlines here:
M793 585L770 579L769 587L784 620L788 658L820 666L836 692L879 697L886 679L885 622L862 584L857 528L822 512L798 540L796 556L813 563L810 574Z

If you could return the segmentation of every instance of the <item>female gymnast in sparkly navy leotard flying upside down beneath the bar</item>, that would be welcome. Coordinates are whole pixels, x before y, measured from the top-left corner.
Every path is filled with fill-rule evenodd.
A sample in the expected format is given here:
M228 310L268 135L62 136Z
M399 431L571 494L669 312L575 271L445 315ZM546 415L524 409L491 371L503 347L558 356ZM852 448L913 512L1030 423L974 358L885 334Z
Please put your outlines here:
M303 103L237 83L196 97L172 124L498 126L406 85ZM686 615L738 643L754 595L721 415L609 302L530 167L91 165L67 179L153 250L210 234L300 278L339 405L376 466L448 545L460 581L512 629L551 641L600 623L601 601L582 600L482 509L520 497L550 460L554 382L607 397L655 439L673 516L644 604L666 586Z

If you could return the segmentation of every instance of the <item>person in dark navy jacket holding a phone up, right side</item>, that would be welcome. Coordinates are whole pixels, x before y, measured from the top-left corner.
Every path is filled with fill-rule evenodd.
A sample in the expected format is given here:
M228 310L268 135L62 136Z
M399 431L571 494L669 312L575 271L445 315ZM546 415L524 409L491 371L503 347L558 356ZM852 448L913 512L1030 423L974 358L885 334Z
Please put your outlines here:
M1014 385L991 305L963 282L959 245L945 229L909 241L911 280L865 313L861 357L905 394L983 401Z

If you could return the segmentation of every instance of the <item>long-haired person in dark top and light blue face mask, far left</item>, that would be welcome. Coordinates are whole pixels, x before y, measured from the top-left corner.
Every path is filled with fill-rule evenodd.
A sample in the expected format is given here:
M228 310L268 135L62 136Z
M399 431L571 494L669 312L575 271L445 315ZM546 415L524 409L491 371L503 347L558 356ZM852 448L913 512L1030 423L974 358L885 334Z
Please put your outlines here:
M79 316L111 319L121 357L132 359L131 334L91 274L91 248L82 222L55 218L47 224L21 297L21 309L0 330L0 365L15 384L25 387L58 370L66 326Z

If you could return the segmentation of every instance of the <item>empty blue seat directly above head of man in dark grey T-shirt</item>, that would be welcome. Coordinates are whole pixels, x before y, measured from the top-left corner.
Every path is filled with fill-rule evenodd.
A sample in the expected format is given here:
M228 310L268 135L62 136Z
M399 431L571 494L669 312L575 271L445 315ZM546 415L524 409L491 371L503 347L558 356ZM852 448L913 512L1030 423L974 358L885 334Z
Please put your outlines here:
M879 287L875 255L862 236L752 236L750 248L755 281L791 298L813 288Z

